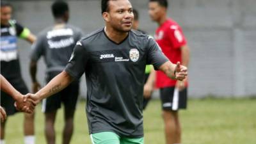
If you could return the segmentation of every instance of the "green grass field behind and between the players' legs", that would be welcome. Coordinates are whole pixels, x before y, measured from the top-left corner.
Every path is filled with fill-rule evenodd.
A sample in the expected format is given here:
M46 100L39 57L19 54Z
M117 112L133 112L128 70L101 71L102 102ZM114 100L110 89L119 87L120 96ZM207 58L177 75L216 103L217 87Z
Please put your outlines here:
M90 143L84 102L79 102L71 144ZM36 144L45 144L44 115L36 109ZM255 144L256 99L189 100L188 110L180 111L184 144ZM23 143L23 115L10 116L6 125L6 144ZM57 143L61 143L63 111L56 119ZM159 100L152 100L144 112L145 143L164 144Z

